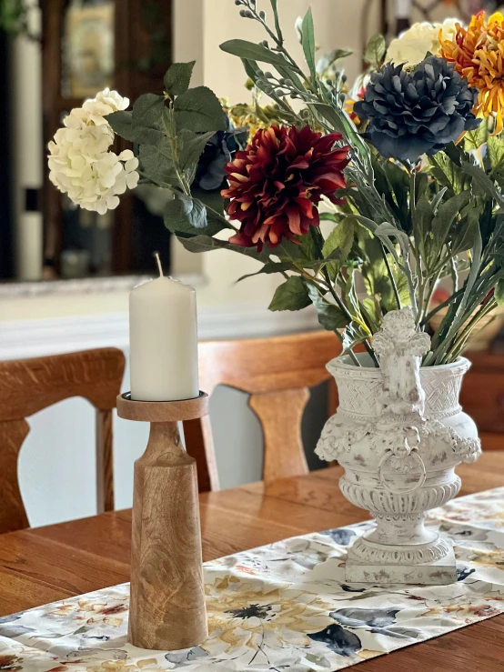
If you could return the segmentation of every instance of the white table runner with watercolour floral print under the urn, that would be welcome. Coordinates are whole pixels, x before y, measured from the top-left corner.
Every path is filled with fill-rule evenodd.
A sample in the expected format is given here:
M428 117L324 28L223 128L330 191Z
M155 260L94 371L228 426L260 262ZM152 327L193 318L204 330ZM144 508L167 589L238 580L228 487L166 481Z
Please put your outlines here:
M350 667L504 612L504 487L430 512L453 539L459 582L345 584L365 522L205 566L209 637L166 653L126 641L128 585L0 617L0 669L29 672L313 672Z

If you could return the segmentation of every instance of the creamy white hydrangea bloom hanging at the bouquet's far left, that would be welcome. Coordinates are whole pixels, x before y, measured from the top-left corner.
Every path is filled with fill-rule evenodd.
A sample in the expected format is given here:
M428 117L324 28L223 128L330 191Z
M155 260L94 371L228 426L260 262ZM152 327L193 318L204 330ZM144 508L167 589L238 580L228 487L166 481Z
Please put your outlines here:
M109 147L114 131L105 116L126 109L129 100L105 89L66 116L49 143L49 178L78 206L104 215L119 205L118 195L138 183L138 159L129 149Z

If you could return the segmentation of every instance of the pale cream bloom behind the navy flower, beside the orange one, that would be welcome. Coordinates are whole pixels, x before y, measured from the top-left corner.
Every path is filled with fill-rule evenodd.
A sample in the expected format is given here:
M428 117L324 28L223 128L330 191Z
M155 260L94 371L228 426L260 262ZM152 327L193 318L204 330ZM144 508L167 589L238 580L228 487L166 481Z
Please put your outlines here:
M442 30L443 39L452 39L457 33L457 23L459 19L446 19L443 24L429 24L428 22L413 24L395 40L392 40L385 60L392 61L395 65L403 63L409 67L418 65L428 53L438 54L441 46L439 30Z

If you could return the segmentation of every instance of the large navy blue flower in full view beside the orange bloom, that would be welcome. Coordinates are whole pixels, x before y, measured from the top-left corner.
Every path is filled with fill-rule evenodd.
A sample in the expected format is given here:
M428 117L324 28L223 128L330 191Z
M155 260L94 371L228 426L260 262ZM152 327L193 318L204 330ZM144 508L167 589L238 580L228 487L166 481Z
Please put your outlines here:
M481 120L472 114L477 96L454 65L428 56L412 71L384 65L371 75L354 112L369 120L366 137L382 156L417 161L479 126Z

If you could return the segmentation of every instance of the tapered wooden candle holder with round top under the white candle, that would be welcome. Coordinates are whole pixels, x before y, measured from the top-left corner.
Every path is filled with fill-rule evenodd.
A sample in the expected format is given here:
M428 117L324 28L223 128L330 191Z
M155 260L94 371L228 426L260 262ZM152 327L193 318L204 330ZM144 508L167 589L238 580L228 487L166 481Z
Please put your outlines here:
M208 636L197 467L177 422L206 416L208 396L133 401L126 392L117 413L150 422L146 452L135 462L128 639L157 650L196 647Z

